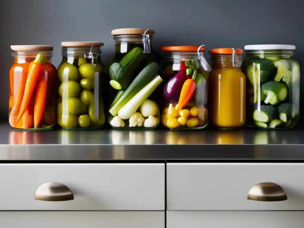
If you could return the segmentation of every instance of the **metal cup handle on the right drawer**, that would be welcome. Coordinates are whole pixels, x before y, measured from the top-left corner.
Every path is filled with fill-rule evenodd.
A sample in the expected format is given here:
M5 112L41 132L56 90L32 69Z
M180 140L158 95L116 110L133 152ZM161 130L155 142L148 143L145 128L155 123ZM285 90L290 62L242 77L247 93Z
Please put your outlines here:
M254 185L250 189L247 199L274 202L287 200L287 195L280 185L271 182L262 182Z

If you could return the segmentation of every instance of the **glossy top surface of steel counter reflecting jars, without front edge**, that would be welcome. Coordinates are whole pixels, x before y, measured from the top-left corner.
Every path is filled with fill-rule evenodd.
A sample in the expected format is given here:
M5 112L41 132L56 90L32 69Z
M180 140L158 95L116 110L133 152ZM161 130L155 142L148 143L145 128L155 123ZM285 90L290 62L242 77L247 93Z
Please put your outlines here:
M188 145L304 144L301 130L0 130L0 145Z

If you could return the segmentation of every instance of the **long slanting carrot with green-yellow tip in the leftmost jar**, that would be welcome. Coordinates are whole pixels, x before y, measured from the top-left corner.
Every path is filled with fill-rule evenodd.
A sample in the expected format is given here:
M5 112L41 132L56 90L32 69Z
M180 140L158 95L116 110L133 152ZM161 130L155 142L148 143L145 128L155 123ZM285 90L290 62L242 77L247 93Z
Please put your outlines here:
M25 84L25 90L24 90L24 96L22 99L22 103L21 103L21 107L20 107L20 111L17 117L16 122L19 121L19 119L21 119L21 117L23 116L24 112L26 111L29 102L31 100L31 97L33 95L37 80L39 78L40 75L40 71L42 68L41 62L42 62L42 54L38 54L36 59L31 62L31 64L29 65L29 72L27 75L27 79L26 79L26 84Z

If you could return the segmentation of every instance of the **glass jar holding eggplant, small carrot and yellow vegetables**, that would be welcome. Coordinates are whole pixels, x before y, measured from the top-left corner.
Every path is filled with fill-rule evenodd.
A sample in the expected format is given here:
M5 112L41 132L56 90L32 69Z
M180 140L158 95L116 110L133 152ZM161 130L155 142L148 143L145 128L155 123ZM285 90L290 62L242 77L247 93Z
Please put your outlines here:
M207 88L211 67L205 46L165 46L161 123L169 129L202 129L208 124Z

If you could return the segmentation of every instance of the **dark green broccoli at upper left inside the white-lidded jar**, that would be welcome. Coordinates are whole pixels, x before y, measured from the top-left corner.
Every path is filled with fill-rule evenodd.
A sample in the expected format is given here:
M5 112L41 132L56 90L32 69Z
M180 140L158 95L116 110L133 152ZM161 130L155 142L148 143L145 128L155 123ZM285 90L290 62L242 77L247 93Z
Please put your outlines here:
M267 59L251 59L247 62L245 74L251 85L264 84L277 73L275 65Z

